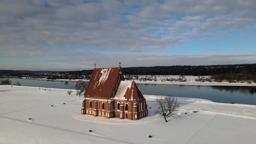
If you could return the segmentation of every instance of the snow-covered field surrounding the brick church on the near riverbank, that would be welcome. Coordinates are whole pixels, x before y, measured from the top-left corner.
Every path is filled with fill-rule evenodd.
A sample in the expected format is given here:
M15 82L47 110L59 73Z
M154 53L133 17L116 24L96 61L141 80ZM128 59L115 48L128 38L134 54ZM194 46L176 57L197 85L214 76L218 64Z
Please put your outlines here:
M256 106L253 105L179 98L182 103L179 114L166 123L154 114L156 96L146 95L148 117L131 121L80 115L82 98L75 92L68 95L67 91L0 86L0 144L255 142ZM194 113L195 110L199 112ZM153 138L148 138L149 135Z

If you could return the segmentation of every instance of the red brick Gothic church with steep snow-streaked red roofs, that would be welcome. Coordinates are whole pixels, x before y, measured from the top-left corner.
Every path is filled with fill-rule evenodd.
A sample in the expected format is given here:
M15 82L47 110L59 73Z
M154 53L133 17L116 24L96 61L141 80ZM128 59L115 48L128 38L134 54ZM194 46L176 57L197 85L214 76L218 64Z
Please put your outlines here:
M146 99L121 67L95 68L84 93L81 114L138 120L148 116Z

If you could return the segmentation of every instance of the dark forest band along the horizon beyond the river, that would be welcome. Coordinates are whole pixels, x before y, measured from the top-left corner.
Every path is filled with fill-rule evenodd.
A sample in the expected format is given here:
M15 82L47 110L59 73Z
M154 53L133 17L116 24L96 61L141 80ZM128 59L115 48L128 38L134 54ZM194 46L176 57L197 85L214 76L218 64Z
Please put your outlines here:
M93 70L81 71L19 71L0 70L0 76L30 76L47 79L80 79L90 78ZM122 68L124 75L179 75L179 76L212 76L211 79L222 80L253 80L256 82L256 64L228 64L208 66L152 66Z

